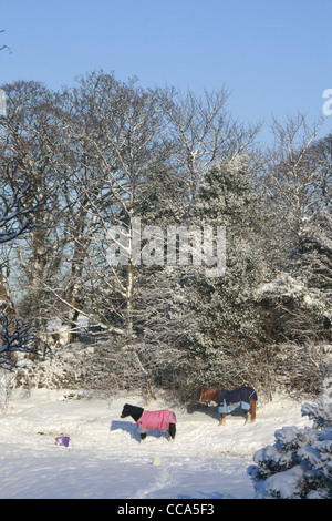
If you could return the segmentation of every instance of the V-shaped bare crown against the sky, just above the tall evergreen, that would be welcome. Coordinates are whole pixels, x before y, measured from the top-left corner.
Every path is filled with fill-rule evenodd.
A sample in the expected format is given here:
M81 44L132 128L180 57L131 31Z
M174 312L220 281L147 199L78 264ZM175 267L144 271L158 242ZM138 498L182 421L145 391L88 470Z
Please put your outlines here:
M196 198L204 173L215 162L240 153L252 143L259 125L243 129L226 109L228 92L205 91L201 98L168 90L166 105L172 159L187 184L189 206Z

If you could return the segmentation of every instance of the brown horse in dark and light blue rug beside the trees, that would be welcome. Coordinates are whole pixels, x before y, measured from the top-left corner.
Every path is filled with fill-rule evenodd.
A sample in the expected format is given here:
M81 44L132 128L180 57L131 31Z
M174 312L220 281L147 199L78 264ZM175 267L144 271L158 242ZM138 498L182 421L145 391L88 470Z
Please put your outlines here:
M234 390L219 389L216 387L204 387L200 392L199 401L215 401L220 412L219 425L226 423L226 415L234 409L241 408L248 411L248 418L251 423L256 420L256 402L258 401L257 392L252 387L239 387Z

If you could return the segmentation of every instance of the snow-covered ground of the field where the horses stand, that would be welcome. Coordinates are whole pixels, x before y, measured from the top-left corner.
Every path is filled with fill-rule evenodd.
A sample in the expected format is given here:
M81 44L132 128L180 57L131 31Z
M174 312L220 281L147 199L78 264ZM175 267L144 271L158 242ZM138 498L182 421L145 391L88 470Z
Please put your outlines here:
M176 412L176 439L152 431L141 443L135 422L120 417L125 402L144 407L141 397L68 395L20 390L0 410L0 499L251 499L255 451L281 427L311 427L302 402L286 397L259 402L256 423L236 415L222 427L215 407L190 413L158 398L146 408ZM60 435L69 447L55 445Z

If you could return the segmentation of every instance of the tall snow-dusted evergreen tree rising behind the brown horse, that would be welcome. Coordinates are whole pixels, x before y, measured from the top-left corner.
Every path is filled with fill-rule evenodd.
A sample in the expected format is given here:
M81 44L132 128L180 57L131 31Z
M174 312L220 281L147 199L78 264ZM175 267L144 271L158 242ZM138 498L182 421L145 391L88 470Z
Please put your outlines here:
M226 387L239 384L239 379L248 382L252 377L250 349L258 326L253 290L267 275L260 246L262 211L248 156L236 154L208 171L196 204L195 223L215 229L225 226L226 270L216 278L206 277L203 269L196 272L191 284L196 320L193 354L205 360L207 384L222 382Z

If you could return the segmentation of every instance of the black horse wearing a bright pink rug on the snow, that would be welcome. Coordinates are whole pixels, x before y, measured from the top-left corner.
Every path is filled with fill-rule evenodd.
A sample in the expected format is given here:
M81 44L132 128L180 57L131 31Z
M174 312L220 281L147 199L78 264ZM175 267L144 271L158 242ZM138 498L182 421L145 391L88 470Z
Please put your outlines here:
M169 441L175 439L176 433L176 416L167 409L163 410L145 410L142 407L125 403L121 418L131 416L136 421L141 433L141 441L145 440L148 430L167 430Z

